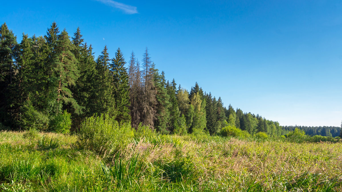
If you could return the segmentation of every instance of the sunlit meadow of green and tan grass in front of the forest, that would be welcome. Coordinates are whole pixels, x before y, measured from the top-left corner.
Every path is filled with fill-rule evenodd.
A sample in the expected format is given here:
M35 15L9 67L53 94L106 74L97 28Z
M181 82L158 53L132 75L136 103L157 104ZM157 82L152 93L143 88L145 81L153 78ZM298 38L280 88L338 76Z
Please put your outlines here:
M108 154L76 136L0 132L0 190L342 191L342 142L153 135Z

